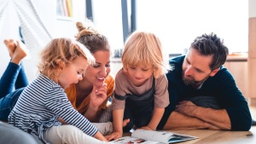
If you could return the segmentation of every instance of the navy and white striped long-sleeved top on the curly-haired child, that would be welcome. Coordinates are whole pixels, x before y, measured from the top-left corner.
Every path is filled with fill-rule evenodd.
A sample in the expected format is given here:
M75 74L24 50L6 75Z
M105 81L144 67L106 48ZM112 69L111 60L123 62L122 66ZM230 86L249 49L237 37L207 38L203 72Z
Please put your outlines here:
M73 108L67 100L64 89L40 74L21 93L14 109L9 114L9 124L36 135L44 141L45 130L61 125L57 120L59 117L67 124L83 130L87 135L95 135L97 132L96 127Z

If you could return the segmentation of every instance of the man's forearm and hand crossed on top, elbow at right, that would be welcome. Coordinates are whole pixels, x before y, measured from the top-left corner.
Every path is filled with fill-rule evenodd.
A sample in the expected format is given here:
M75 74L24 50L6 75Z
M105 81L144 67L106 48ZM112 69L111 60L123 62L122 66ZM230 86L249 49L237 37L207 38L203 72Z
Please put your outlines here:
M191 101L182 101L177 105L177 112L184 115L199 118L208 124L215 125L221 130L231 130L230 117L225 109L212 109L195 106Z

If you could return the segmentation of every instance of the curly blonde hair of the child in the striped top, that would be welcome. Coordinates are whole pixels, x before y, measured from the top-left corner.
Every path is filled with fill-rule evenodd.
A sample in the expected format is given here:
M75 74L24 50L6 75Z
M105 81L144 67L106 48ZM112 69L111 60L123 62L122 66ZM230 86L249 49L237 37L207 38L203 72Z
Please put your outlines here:
M55 38L49 42L41 53L39 72L49 78L55 78L54 70L61 64L68 65L79 56L84 57L88 64L95 62L90 51L83 44L70 38Z

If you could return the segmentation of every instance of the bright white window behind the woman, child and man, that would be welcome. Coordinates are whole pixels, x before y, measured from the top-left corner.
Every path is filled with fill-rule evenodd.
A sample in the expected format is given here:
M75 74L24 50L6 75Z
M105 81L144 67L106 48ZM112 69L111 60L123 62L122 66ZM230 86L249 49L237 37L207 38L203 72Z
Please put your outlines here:
M231 52L247 52L246 0L137 0L137 30L160 37L165 54L183 54L195 37L214 32ZM128 18L131 0L127 0ZM121 0L94 0L94 24L111 45L122 49ZM131 21L129 21L131 22ZM128 24L130 25L130 24Z

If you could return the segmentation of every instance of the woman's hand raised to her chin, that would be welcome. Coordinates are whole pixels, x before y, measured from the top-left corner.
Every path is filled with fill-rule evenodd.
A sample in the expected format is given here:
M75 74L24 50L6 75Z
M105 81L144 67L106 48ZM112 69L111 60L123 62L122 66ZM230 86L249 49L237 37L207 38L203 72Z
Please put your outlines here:
M102 105L102 102L107 99L107 84L102 84L99 87L93 86L93 89L90 93L90 106L99 107Z

